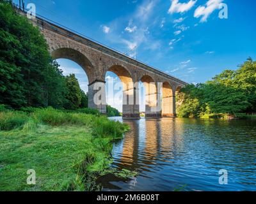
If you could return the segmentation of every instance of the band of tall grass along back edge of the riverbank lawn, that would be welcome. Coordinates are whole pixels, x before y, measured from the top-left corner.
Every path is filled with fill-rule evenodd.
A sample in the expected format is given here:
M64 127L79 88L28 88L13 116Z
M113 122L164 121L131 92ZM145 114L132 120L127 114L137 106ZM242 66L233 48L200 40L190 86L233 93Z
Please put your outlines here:
M30 110L30 109L29 109ZM122 135L129 128L127 125L104 116L95 116L84 113L63 112L54 108L36 108L34 112L0 112L0 129L12 130L15 128L35 128L38 124L49 126L91 126L93 136L105 138L122 138Z

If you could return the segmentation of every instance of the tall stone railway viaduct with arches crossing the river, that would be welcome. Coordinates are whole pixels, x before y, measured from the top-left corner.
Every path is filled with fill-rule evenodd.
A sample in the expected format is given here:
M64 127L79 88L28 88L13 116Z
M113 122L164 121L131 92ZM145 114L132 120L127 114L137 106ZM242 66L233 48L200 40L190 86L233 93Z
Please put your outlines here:
M175 92L179 91L180 87L186 86L186 82L154 69L143 62L136 61L116 50L100 45L100 43L89 40L49 20L36 17L32 21L44 35L53 59L70 59L84 69L89 80L90 108L97 108L100 112L106 113L105 77L107 71L112 71L123 83L124 118L140 118L140 105L136 103L139 101L138 82L140 81L143 82L146 90L145 117L176 117ZM162 96L159 92L159 82L163 83ZM99 87L99 89L95 90L95 87ZM93 100L99 91L101 92L98 100L98 102L101 101L100 104L97 103L97 100ZM134 101L132 104L131 98ZM128 100L130 103L125 103ZM161 104L161 110L152 110L152 107L159 104Z

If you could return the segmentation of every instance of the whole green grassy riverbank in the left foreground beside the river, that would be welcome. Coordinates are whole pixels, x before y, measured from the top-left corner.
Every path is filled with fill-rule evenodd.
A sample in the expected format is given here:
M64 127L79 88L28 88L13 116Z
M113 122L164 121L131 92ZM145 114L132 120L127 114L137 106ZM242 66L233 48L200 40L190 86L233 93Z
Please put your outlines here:
M0 191L97 190L113 139L129 127L106 117L52 108L0 112ZM36 185L26 182L36 172Z

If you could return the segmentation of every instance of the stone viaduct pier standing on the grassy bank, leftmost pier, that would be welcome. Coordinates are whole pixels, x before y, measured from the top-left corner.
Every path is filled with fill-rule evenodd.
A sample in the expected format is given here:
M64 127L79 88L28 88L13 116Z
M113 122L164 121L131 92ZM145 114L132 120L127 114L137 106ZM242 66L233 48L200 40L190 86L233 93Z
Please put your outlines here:
M95 80L88 85L88 107L106 114L106 82Z

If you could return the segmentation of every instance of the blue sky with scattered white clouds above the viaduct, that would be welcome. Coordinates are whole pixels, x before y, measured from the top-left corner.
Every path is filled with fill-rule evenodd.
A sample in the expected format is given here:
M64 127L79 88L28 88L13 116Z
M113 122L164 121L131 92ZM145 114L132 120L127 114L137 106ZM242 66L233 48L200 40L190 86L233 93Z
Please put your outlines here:
M120 52L136 45L138 60L189 83L205 82L224 69L236 69L249 56L256 58L256 2L251 0L25 3L35 3L40 15ZM227 19L218 17L220 3L228 6ZM77 73L86 91L83 70L74 62L59 62L65 73Z

